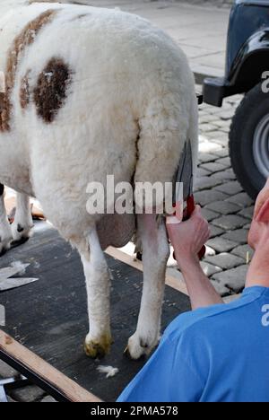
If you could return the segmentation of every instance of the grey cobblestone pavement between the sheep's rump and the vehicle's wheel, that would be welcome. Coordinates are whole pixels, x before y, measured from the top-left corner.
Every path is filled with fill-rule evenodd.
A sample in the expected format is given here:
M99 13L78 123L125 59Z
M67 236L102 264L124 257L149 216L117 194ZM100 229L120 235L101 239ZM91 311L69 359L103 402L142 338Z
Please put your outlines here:
M204 207L204 217L211 225L211 239L202 265L223 297L242 291L247 265L253 256L247 245L247 232L254 202L230 167L228 147L230 121L240 101L241 97L236 96L226 100L221 109L205 104L200 107L195 200Z

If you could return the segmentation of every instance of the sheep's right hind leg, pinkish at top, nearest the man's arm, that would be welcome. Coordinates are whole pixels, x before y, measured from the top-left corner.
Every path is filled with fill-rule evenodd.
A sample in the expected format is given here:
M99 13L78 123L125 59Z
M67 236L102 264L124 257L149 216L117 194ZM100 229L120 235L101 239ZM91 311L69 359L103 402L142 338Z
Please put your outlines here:
M157 223L156 215L138 215L138 232L143 246L143 297L137 329L129 339L127 347L132 359L149 354L158 344L165 273L169 258L165 223Z

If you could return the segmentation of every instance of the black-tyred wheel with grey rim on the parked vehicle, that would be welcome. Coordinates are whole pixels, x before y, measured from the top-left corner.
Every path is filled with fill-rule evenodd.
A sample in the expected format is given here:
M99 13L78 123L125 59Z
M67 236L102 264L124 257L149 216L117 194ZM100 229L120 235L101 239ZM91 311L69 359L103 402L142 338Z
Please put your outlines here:
M261 84L246 94L232 120L230 159L240 184L256 199L269 177L269 93Z

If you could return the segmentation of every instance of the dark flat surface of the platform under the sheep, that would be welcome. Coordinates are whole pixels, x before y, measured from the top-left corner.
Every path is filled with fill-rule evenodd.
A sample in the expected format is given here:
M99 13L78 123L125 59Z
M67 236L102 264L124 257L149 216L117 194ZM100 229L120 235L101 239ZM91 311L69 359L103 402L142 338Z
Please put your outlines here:
M25 276L39 281L0 293L6 311L4 331L46 362L105 401L115 401L145 360L132 362L123 351L133 334L139 311L143 274L134 267L108 256L114 281L111 295L111 323L115 344L102 361L92 361L82 351L88 332L86 291L82 264L76 251L53 229L38 223L34 237L0 258L0 268L20 260L30 263ZM167 286L162 328L180 312L188 311L189 300ZM97 367L111 365L117 376L106 379Z

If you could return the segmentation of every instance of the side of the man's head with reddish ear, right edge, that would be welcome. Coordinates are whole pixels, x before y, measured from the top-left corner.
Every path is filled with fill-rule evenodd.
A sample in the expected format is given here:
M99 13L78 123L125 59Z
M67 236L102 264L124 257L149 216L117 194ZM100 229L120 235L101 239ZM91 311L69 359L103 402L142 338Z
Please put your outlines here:
M256 199L256 206L250 231L248 244L256 249L261 243L269 246L269 179Z

